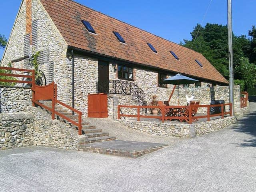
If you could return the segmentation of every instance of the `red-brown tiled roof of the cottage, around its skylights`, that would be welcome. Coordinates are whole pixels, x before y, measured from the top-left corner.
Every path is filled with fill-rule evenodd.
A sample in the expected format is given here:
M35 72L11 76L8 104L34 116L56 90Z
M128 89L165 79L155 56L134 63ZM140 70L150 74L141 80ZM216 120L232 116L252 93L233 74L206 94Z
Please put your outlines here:
M228 83L198 52L71 0L40 1L69 46L210 81ZM88 32L81 20L90 22L96 34ZM113 31L119 32L126 44L120 43ZM152 44L157 53L154 53L147 43ZM176 60L170 51L175 52L179 60ZM200 67L195 59L199 60L203 67Z

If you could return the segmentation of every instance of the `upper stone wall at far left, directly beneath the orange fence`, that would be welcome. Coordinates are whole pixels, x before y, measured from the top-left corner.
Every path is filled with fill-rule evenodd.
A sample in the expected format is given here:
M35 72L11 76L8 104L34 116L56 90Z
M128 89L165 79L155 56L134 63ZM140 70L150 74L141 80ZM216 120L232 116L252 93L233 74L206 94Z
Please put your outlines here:
M25 111L32 105L30 88L0 87L0 113Z

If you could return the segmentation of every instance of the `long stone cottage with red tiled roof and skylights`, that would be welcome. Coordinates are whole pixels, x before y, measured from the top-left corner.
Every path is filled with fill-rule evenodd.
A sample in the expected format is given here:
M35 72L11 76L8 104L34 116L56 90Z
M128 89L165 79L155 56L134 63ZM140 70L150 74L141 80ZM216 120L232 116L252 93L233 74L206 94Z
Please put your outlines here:
M200 80L181 93L201 87L210 97L211 86L228 84L202 54L72 0L22 0L2 65L32 68L36 52L46 83L58 85L58 99L85 115L87 96L96 92L108 94L110 116L116 103L150 103L152 94L168 100L173 86L162 80L177 73Z

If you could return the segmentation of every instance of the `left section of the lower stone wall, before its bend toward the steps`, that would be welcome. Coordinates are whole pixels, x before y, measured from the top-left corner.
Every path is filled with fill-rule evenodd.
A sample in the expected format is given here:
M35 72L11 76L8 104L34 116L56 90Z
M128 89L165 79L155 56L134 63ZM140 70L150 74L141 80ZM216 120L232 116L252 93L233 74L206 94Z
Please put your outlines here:
M0 114L0 150L33 145L33 116L27 112Z

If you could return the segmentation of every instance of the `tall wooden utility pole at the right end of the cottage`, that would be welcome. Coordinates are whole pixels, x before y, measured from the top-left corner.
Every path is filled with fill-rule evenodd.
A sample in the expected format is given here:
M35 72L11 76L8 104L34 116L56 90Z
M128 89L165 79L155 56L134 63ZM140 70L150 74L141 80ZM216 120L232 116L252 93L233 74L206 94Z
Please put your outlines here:
M229 58L229 102L232 103L234 115L234 68L232 47L232 0L228 0L228 58Z

